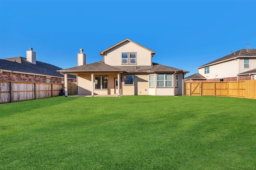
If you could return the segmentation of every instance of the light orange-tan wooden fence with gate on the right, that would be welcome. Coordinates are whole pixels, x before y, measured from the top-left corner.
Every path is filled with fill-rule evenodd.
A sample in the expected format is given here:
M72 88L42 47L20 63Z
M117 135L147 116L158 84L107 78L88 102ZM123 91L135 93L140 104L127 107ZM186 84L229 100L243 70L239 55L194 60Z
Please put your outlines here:
M256 99L256 80L185 82L185 95L226 96Z

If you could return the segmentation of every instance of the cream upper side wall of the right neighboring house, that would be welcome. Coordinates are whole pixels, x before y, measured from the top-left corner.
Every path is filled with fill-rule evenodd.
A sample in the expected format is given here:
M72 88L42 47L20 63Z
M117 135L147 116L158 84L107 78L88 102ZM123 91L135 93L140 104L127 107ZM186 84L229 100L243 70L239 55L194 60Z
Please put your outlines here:
M207 79L221 79L224 77L236 77L238 74L238 60L231 60L224 63L209 66L210 73L204 74L204 68L198 70L198 73Z

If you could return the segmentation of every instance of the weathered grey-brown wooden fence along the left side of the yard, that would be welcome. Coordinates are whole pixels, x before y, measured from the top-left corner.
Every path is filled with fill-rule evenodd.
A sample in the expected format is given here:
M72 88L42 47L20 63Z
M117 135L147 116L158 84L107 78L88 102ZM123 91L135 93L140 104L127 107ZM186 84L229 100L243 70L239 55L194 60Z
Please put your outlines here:
M0 81L0 103L59 96L62 84Z

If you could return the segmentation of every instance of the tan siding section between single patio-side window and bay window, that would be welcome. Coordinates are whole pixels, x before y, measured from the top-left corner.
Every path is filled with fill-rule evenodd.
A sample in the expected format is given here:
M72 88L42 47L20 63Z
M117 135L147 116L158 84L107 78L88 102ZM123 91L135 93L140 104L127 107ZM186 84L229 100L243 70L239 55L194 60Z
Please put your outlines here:
M134 95L148 95L148 74L134 75Z

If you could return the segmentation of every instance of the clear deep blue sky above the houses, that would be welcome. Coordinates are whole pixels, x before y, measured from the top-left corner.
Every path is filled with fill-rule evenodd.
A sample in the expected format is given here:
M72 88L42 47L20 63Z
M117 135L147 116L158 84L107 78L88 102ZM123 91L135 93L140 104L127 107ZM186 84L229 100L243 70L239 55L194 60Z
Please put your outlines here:
M63 69L101 61L100 51L128 38L156 51L153 62L196 67L256 49L256 1L0 0L0 58L26 57Z

